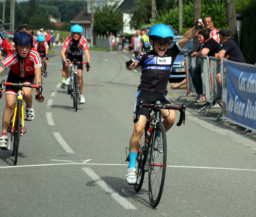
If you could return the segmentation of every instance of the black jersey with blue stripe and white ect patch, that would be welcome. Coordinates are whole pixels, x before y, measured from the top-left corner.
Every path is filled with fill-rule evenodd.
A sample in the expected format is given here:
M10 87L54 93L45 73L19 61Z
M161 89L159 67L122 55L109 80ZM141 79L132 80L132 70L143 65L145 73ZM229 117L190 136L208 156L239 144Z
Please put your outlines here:
M166 96L172 65L181 50L176 42L168 48L164 56L159 56L154 50L145 50L139 53L135 59L138 61L138 65L142 66L138 91L158 92Z

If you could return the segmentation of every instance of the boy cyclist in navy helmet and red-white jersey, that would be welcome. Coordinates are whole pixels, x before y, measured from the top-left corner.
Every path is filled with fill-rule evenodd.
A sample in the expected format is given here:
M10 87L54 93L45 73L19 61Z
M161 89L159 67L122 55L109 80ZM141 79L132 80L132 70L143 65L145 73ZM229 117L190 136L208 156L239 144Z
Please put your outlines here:
M36 78L36 85L41 82L41 60L36 49L32 48L33 36L27 32L17 32L14 35L16 50L11 51L5 60L0 64L0 74L10 67L7 82L33 84ZM12 110L15 106L15 96L17 88L6 86L6 104L2 116L2 134L0 137L0 148L7 147L7 130L12 117ZM34 119L34 109L32 105L32 88L23 87L23 99L26 102L26 119ZM36 90L36 100L43 102L43 97L39 98L39 90Z

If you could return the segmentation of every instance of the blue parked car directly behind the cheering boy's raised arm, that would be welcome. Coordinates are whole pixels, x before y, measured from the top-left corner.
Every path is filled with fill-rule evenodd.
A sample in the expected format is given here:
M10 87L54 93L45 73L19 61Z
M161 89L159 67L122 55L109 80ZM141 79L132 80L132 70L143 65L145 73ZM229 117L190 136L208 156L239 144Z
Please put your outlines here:
M179 41L182 37L183 35L174 36L174 39L172 40L170 47L174 45L177 41ZM184 54L187 53L188 50L191 50L192 47L193 47L193 39L191 39L185 45L185 47L183 47L183 50L180 53L178 53L174 61L174 64L172 66L169 81L171 81L171 79L174 79L174 78L186 78Z

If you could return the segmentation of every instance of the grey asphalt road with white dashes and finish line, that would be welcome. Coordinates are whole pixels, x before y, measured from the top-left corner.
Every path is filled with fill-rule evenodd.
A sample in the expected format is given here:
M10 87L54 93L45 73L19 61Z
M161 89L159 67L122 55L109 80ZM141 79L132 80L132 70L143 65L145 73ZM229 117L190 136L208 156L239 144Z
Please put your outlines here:
M55 50L43 81L45 101L33 102L35 119L25 122L17 166L12 150L0 150L1 217L256 215L255 137L227 121L213 122L219 110L196 114L199 104L187 109L185 125L167 132L164 192L151 208L147 174L139 193L125 180L140 80L124 67L131 56L90 51L86 103L75 112L60 88L60 48ZM192 99L176 101L184 92L169 90L167 98L180 105ZM4 106L2 97L0 111Z

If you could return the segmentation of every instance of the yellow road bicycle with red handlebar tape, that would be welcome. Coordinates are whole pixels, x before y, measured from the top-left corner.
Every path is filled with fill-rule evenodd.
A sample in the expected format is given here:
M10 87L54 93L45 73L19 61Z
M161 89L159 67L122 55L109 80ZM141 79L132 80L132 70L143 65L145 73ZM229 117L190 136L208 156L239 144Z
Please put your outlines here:
M2 97L2 91L3 87L10 85L18 87L18 92L16 94L15 99L15 107L14 112L12 113L12 122L9 125L8 132L10 133L10 137L8 139L8 148L1 148L2 150L10 150L10 144L12 142L12 139L14 139L13 143L13 155L14 155L14 165L17 164L18 159L18 146L20 143L20 137L23 136L24 133L26 133L26 126L24 125L24 109L23 109L23 95L22 95L22 87L30 87L30 88L39 88L40 92L40 98L42 98L42 84L38 83L39 85L32 85L32 84L14 84L11 82L5 82L5 80L2 80L0 87L0 98Z

